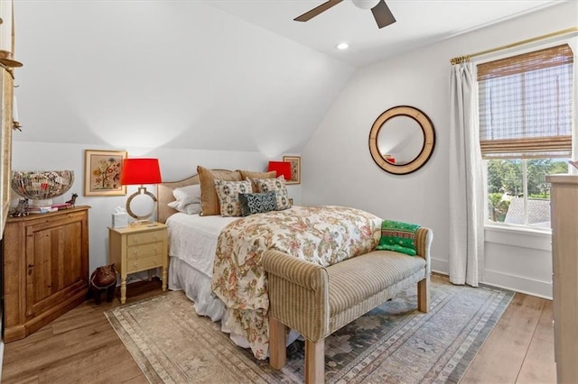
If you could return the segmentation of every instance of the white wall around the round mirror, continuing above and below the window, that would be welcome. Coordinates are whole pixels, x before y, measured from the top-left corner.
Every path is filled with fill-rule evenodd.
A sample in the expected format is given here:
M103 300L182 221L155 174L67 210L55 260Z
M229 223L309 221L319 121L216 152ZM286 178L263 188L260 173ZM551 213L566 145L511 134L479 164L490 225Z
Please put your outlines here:
M384 218L431 227L433 270L447 273L449 60L573 27L577 14L578 2L565 2L359 70L302 151L304 203L357 206ZM379 169L368 151L372 123L395 105L423 110L436 131L432 158L406 176ZM536 248L523 245L524 235L505 236L500 242L488 236L485 281L551 297L551 252L544 243L549 236L541 236Z

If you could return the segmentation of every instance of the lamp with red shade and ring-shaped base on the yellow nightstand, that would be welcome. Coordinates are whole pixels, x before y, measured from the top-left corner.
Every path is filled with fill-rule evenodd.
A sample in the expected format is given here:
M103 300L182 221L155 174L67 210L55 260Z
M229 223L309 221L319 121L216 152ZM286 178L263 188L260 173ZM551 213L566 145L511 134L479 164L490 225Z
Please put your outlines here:
M126 213L135 217L136 220L145 220L152 215L156 208L156 197L146 190L144 184L158 184L161 182L161 169L158 159L125 159L123 161L123 170L120 175L120 183L123 186L140 185L138 191L128 197L126 200ZM153 207L143 215L136 215L131 210L131 202L135 197L146 195L153 199Z

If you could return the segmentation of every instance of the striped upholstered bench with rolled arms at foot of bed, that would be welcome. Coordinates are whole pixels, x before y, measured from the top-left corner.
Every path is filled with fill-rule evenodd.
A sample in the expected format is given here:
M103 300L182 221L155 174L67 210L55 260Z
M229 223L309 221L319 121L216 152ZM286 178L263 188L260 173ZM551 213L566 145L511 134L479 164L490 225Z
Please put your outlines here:
M270 365L284 367L289 327L305 338L305 382L322 383L325 337L415 284L417 309L428 312L432 239L432 231L421 227L416 256L371 251L329 267L266 251Z

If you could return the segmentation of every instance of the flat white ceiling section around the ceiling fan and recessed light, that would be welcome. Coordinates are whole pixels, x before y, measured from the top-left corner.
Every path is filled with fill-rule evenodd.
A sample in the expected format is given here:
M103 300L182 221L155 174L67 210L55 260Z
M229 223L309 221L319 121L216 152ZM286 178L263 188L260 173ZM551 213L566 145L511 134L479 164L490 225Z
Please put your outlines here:
M361 10L349 0L306 23L293 19L324 0L212 0L207 4L359 67L564 1L387 0L396 23L382 29L370 10ZM348 42L350 49L337 50L341 41Z

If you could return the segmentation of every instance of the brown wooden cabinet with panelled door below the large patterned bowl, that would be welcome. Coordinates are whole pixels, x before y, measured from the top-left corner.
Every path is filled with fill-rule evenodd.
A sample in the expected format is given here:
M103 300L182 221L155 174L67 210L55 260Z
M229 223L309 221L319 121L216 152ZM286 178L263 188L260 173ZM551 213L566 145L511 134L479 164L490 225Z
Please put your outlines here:
M5 343L86 300L89 206L8 218L4 233Z

